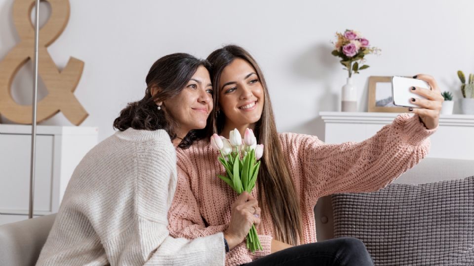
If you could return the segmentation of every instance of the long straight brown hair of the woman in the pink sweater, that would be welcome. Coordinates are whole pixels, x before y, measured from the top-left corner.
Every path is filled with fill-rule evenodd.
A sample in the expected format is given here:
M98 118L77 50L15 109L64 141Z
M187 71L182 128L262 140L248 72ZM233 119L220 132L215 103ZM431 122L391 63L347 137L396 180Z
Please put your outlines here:
M271 214L276 239L296 245L298 237L300 239L302 237L300 202L276 132L272 103L262 70L243 48L227 45L215 50L207 57L207 61L212 65L212 84L215 87L219 86L222 71L236 58L247 61L255 68L265 94L262 116L255 124L255 136L258 143L264 144L265 150L271 152L265 152L261 159L262 163L257 178L258 200L264 202L262 205L264 210L267 208ZM214 106L218 106L219 93L214 93L213 98ZM213 133L219 134L224 127L225 114L217 112L217 109L217 107L212 109L210 123L207 124L207 127L211 127ZM270 202L275 202L275 199L278 199L278 203L270 204Z

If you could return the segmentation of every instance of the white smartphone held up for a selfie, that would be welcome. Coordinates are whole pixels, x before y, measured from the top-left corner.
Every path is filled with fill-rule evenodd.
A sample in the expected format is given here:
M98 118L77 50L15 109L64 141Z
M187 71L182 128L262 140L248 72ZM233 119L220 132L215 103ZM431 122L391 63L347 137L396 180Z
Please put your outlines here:
M411 102L411 98L427 99L421 95L413 93L411 87L420 87L428 90L431 89L430 85L421 79L400 76L392 77L392 98L396 106L419 108L420 106Z

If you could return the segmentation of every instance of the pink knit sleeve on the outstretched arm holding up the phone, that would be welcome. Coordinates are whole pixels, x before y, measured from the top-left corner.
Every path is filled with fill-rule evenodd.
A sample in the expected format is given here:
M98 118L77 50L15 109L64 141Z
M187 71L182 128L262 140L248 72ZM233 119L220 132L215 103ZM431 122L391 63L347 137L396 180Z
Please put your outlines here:
M419 116L398 115L392 124L362 142L326 144L315 136L293 135L308 197L372 192L415 166L430 150L428 130Z

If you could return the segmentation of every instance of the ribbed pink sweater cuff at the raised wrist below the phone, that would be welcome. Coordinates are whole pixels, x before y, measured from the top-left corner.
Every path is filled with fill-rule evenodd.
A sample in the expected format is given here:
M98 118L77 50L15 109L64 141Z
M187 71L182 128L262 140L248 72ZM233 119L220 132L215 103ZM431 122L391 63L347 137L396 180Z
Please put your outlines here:
M409 114L401 114L396 119L405 120L403 134L406 136L407 143L413 146L420 145L426 138L435 133L439 127L432 130L427 129L425 124L421 122L418 114L412 117L409 117Z

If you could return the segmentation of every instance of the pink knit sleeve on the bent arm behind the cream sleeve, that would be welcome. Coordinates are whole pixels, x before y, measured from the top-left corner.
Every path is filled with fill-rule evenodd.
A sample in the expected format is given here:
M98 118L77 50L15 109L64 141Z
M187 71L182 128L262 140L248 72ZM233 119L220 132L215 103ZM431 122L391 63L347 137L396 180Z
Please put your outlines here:
M215 233L222 233L228 224L206 226L199 212L196 197L189 182L189 175L178 164L178 185L168 212L168 230L174 237L194 239ZM226 254L226 265L235 266L249 263L252 259L270 254L271 235L259 235L263 250L251 253L245 241L234 247Z

